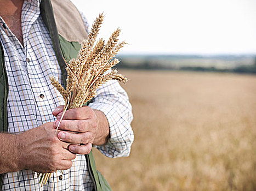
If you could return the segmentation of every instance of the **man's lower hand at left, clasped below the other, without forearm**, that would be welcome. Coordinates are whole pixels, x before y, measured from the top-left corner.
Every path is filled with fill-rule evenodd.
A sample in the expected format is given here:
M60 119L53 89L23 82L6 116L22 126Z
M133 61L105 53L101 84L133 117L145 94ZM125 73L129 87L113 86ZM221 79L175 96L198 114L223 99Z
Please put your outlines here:
M76 154L67 150L69 144L58 139L53 125L53 122L45 123L16 135L20 170L54 172L71 168Z

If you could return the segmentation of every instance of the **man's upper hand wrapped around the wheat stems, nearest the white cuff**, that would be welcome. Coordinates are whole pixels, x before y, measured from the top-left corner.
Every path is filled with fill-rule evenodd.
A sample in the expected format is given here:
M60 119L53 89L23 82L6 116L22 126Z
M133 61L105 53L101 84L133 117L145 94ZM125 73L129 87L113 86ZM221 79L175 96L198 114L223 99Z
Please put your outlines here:
M54 122L58 127L64 106L53 111L57 117ZM103 112L93 110L89 106L67 110L59 125L58 138L70 143L69 150L77 154L88 154L92 145L103 145L109 138L109 123Z

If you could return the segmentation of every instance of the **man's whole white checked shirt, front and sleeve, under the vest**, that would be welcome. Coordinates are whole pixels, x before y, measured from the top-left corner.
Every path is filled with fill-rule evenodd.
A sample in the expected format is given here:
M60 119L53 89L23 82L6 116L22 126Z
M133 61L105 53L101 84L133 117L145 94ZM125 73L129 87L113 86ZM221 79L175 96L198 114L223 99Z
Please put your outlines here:
M9 82L8 132L13 134L55 121L52 110L64 105L49 80L53 75L61 82L61 70L49 31L40 16L39 3L25 0L22 6L24 46L0 17L0 40ZM89 106L103 111L109 121L110 140L98 146L99 151L111 158L128 156L134 139L130 127L133 116L127 94L119 83L112 80L99 88ZM4 175L3 190L93 190L86 159L79 154L71 169L63 174L54 173L43 187L38 181L36 172L31 170L9 172Z

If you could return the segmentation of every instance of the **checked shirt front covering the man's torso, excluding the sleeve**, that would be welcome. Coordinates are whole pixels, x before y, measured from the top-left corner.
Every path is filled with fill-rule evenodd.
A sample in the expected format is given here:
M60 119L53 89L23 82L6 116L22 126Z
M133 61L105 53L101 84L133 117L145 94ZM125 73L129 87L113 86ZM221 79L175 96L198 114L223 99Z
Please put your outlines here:
M18 33L13 33L14 27L11 30L4 20L1 21L0 36L9 82L8 132L19 134L55 120L52 110L64 104L64 100L50 84L49 76L61 82L61 70L49 31L39 15L37 1L24 1L22 7L24 44L20 37L17 38ZM78 155L72 168L62 172L54 173L42 188L36 173L31 170L9 172L4 176L3 190L93 189L84 156Z

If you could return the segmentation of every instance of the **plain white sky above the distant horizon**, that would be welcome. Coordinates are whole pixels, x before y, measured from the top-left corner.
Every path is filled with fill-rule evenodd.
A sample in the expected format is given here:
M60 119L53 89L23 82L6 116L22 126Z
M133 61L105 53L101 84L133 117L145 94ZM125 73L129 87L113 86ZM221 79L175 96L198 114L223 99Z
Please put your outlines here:
M256 0L72 0L99 37L120 27L121 53L256 53Z

